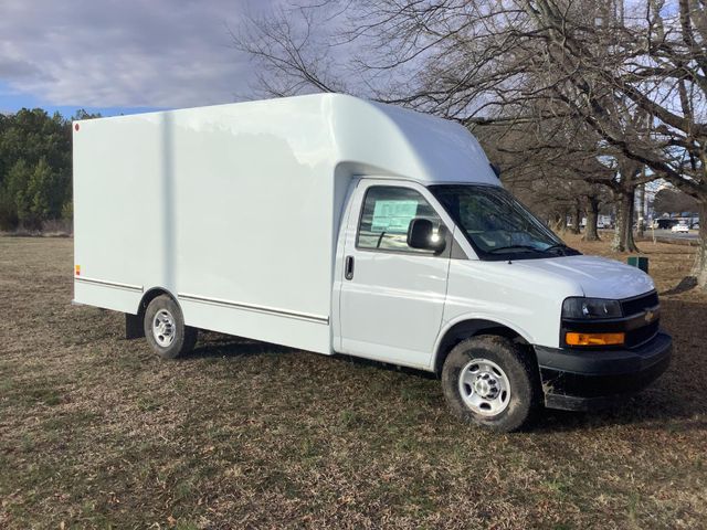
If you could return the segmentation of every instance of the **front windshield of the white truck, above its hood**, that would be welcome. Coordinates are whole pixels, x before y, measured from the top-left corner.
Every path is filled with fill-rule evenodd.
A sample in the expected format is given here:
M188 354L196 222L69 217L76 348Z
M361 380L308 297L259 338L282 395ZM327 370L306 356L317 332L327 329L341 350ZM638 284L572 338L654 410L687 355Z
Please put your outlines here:
M431 186L482 259L531 259L579 254L500 187Z

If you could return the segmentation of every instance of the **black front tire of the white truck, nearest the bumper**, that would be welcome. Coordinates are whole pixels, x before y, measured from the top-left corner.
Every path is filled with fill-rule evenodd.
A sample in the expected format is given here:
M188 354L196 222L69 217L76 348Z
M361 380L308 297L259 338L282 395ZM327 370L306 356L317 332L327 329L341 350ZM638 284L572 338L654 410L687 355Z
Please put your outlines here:
M476 393L471 384L461 380L462 371L468 370L468 379L478 381L485 378L484 371L478 369L477 363L471 364L473 360L490 361L487 365L496 364L502 370L502 374L487 371L492 378L492 386L486 386L485 395L495 395L490 402L500 409L498 413L489 406L481 393ZM483 363L482 363L483 364ZM503 379L505 375L506 379ZM467 381L468 381L467 379ZM488 378L487 378L488 379ZM498 383L500 380L502 382ZM505 382L509 383L508 394L499 392L505 389ZM484 383L479 383L484 384ZM528 427L535 420L541 406L542 389L535 356L524 351L513 341L496 336L479 336L460 342L447 356L442 369L442 389L444 398L452 413L466 423L473 423L489 427L500 433L509 433ZM490 392L488 391L490 389ZM462 393L467 400L481 398L481 405L467 404ZM502 399L503 395L503 399ZM505 404L504 404L505 403ZM476 411L473 409L476 406ZM482 410L486 407L486 411Z

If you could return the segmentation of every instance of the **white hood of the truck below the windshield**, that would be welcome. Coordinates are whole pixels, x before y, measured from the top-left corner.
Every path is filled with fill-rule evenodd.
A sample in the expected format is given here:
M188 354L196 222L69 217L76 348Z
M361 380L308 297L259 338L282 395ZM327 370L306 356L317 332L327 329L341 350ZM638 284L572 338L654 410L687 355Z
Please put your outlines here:
M514 265L573 280L581 286L584 296L592 298L630 298L655 288L651 276L640 268L599 256L523 259Z

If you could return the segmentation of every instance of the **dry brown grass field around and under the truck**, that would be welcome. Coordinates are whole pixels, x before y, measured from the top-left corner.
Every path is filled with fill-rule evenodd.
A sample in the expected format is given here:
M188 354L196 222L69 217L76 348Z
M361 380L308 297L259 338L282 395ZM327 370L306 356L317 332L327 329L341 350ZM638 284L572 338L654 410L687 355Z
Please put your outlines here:
M688 273L689 247L641 246L661 293ZM707 527L695 289L662 298L674 360L646 391L496 435L416 372L217 333L160 361L70 305L72 266L68 239L0 237L0 528Z

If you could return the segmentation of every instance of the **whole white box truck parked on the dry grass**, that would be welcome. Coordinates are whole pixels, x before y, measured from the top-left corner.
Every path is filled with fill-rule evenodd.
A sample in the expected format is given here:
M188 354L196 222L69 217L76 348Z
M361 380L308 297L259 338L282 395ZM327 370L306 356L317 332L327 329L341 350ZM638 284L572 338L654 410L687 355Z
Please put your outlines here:
M328 94L73 136L74 301L163 358L205 329L413 367L497 431L668 364L651 278L567 247L461 125Z

